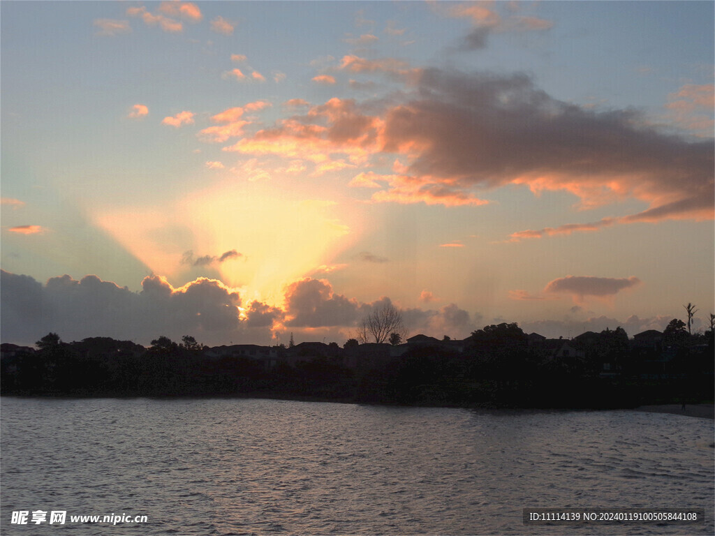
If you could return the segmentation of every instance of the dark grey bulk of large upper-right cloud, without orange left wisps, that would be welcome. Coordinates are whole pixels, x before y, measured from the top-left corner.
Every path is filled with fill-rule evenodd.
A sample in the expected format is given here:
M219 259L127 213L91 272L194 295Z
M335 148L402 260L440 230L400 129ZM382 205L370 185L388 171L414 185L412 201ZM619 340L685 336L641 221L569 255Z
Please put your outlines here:
M425 69L417 86L422 98L389 109L381 137L383 152L408 157L416 180L453 192L565 190L583 208L628 198L651 205L623 223L712 217L709 142L661 134L635 111L557 101L523 74Z

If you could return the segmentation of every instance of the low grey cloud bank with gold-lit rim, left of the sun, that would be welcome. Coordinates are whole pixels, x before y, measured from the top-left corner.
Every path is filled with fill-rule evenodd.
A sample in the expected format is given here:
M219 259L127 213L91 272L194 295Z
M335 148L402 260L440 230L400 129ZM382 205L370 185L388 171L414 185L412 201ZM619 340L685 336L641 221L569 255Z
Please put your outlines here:
M174 288L163 277L146 277L141 292L88 275L40 284L0 272L3 337L31 344L47 332L64 340L114 337L148 344L166 335L192 334L207 344L241 336L240 295L220 281L201 277Z

